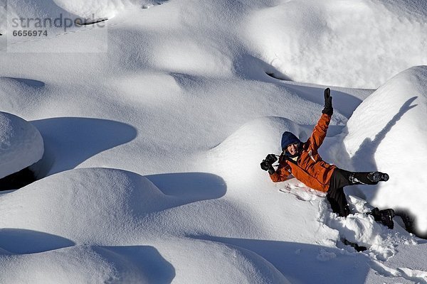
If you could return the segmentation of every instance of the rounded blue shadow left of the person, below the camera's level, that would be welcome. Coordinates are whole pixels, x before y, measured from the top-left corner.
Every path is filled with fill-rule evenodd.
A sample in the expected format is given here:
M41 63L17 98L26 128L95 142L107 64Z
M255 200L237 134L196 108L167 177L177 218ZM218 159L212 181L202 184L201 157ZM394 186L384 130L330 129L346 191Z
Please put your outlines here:
M210 173L166 173L146 175L165 195L179 197L185 203L212 200L226 194L225 180Z

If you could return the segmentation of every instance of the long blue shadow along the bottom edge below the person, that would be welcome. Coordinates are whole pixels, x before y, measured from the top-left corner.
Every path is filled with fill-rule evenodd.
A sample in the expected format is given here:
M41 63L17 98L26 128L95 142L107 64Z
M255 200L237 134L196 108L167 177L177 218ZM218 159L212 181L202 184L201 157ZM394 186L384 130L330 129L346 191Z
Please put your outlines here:
M290 283L365 283L370 269L369 257L364 253L348 253L327 246L217 236L190 237L253 251L275 266Z

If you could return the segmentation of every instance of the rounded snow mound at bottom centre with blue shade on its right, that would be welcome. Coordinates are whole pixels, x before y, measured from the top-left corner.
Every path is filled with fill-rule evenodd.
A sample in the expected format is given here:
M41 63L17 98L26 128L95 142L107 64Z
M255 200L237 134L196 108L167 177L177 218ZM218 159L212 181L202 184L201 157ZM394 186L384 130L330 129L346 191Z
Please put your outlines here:
M174 239L164 257L183 256L185 265L176 267L176 283L290 283L265 258L247 249L216 241ZM195 269L196 268L196 269ZM222 273L227 271L227 273Z

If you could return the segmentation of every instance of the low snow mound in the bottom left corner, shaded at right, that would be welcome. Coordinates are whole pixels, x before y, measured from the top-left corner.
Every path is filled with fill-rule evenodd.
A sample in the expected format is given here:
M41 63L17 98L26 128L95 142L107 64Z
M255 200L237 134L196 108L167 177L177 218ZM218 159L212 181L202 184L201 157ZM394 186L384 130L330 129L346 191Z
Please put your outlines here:
M151 246L74 246L0 256L0 263L7 271L1 283L153 283L174 276L173 267Z

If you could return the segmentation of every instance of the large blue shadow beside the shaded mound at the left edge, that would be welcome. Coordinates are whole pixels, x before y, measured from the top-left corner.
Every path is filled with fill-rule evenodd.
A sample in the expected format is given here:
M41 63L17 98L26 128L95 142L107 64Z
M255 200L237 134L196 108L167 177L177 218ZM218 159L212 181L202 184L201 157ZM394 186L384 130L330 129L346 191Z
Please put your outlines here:
M118 121L58 117L31 121L43 136L45 153L33 168L37 178L75 168L102 151L132 141L135 127Z

